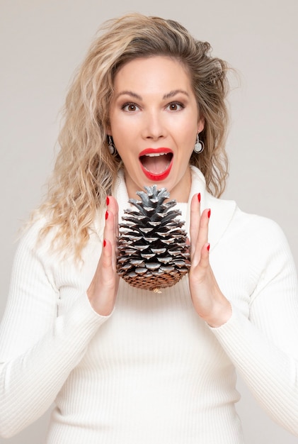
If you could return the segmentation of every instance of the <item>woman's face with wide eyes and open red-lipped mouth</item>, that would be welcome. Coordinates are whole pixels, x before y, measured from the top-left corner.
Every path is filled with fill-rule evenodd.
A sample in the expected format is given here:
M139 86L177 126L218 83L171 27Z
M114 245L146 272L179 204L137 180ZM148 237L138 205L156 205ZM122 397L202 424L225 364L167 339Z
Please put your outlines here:
M188 201L190 155L204 128L185 67L170 57L127 62L115 75L110 128L125 167L128 194L145 185L166 187Z

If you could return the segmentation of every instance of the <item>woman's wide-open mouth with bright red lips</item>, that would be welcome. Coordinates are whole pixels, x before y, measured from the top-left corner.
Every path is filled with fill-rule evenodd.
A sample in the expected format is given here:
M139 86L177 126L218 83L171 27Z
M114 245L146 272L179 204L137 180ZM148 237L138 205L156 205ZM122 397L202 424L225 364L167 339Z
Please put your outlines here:
M139 162L146 177L151 180L164 180L170 174L173 165L173 152L168 148L151 148L139 155Z

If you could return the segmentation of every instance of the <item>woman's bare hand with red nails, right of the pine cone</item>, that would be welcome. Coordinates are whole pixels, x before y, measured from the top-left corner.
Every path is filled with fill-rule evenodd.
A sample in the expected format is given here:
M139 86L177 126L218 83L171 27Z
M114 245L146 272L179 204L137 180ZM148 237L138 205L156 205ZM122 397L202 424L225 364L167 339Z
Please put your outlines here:
M210 216L210 209L200 214L200 194L195 194L190 207L190 294L200 317L211 327L219 327L231 317L231 304L220 291L209 262Z

